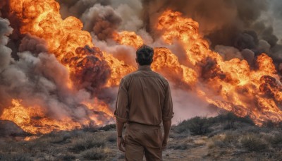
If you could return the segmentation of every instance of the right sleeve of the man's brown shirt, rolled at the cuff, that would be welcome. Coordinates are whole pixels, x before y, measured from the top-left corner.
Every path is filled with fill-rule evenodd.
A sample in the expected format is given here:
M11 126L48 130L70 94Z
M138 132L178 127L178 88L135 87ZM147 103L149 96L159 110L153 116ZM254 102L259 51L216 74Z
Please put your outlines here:
M164 107L162 110L162 119L163 121L168 121L171 118L173 118L173 103L172 103L172 97L171 97L171 88L169 87L169 84L166 85L166 96L164 99Z

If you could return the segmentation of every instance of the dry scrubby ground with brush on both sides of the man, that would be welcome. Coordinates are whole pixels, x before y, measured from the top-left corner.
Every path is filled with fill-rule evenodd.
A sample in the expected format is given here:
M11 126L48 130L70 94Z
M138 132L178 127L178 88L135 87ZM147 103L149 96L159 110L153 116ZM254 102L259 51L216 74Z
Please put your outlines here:
M282 160L281 127L234 121L226 128L226 121L213 121L199 135L192 133L199 122L192 123L173 126L164 160ZM116 148L114 125L32 137L1 137L0 160L124 160Z

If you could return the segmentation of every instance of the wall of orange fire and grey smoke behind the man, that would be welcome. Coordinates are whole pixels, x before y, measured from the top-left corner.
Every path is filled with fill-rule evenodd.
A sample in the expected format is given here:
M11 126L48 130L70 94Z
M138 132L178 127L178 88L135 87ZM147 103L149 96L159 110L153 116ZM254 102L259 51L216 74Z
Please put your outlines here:
M211 31L210 37L203 35L201 24L171 10L176 6L164 7L136 30L135 15L133 20L123 13L130 8L104 3L84 6L85 13L75 9L80 1L73 6L55 0L0 3L0 119L29 133L108 124L114 120L119 81L137 68L135 49L149 44L155 47L152 69L168 78L174 90L192 93L204 105L248 115L258 125L282 121L278 64L262 48L271 47L270 39L250 48L239 45L245 41L239 37L236 47L212 49ZM69 7L78 13L64 13ZM252 36L247 33L242 34ZM276 51L280 47L272 45Z

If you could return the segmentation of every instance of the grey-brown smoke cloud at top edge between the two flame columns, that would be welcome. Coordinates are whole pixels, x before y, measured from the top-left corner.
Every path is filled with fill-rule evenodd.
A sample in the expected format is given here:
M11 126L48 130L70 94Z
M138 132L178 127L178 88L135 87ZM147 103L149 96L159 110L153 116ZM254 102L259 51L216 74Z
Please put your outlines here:
M143 28L140 0L59 0L63 18L75 16L82 20L84 30L94 32L99 40L112 37L118 30L138 31Z

